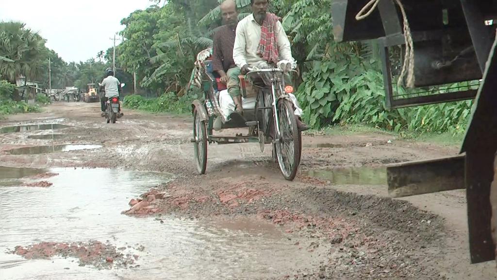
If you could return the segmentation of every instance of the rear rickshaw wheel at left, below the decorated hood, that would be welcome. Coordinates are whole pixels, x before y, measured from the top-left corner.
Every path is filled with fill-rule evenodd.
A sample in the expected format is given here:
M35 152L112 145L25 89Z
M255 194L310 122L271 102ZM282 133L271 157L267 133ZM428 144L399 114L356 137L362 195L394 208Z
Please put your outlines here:
M205 131L205 121L200 120L196 109L193 113L193 140L197 172L205 174L207 167L207 133Z

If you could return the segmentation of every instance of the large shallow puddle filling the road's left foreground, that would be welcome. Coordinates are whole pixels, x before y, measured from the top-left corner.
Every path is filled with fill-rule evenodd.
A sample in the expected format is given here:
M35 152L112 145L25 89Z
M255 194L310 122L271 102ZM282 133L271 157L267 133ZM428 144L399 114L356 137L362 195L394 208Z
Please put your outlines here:
M121 215L130 198L169 180L161 173L51 169L50 188L0 188L0 275L5 279L267 279L318 265L325 254L299 249L260 220L177 219ZM29 207L26 207L29 205ZM29 260L7 254L42 241L96 240L117 248L143 246L132 269L98 271L63 258ZM325 250L325 247L323 250ZM320 247L321 248L321 247ZM132 249L129 249L132 250ZM128 253L128 249L123 251Z

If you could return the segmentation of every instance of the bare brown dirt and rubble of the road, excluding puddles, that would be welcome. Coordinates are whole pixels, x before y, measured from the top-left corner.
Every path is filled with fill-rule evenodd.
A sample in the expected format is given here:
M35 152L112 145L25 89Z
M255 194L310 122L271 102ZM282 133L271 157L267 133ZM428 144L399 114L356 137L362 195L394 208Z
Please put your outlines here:
M298 236L295 245L301 250L316 250L324 256L319 265L288 271L277 279L497 279L494 263L469 264L464 191L393 200L387 197L386 186L341 185L308 176L310 170L379 167L455 155L458 147L400 141L389 135L304 136L299 173L288 182L271 161L269 145L261 153L258 144L211 144L207 174L199 176L189 142L190 117L125 111L117 124L107 125L98 111L98 104L58 103L45 113L0 121L0 127L71 126L55 130L62 135L49 140L28 138L47 131L0 135L1 165L172 173L175 180L158 186L153 196L145 196L147 204L136 213L196 219L253 217ZM319 147L330 143L332 147ZM53 144L102 148L33 155L6 152Z

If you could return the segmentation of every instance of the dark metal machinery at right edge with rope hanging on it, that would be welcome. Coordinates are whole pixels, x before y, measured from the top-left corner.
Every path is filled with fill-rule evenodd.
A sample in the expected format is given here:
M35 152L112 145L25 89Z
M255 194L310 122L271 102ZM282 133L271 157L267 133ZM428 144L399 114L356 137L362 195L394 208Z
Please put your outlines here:
M497 19L497 0L400 0L414 41L414 86L418 90L412 95L396 91L398 64L391 51L403 48L406 41L399 6L395 0L379 0L368 17L356 20L356 14L368 2L333 0L333 34L336 41L378 41L388 107L476 97L461 149L465 154L389 166L389 190L394 196L403 196L465 187L471 261L495 260L490 186L497 149L497 25L493 24ZM451 92L432 90L465 82L467 87L458 86Z

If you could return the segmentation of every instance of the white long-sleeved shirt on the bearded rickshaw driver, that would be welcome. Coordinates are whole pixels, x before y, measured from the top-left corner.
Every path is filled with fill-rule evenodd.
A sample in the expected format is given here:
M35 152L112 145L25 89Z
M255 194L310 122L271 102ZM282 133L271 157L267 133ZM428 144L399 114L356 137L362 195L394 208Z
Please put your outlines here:
M255 21L253 14L246 16L238 23L235 46L233 47L233 60L238 67L242 68L246 64L251 65L263 60L257 54L260 33L260 25ZM292 57L290 41L279 21L275 33L280 60L295 61Z

